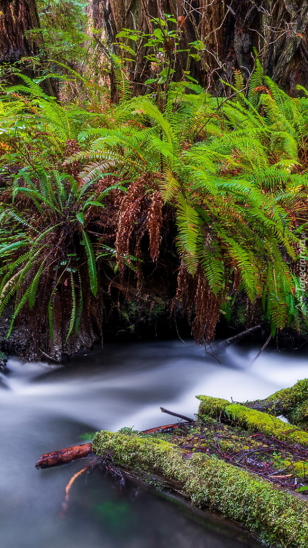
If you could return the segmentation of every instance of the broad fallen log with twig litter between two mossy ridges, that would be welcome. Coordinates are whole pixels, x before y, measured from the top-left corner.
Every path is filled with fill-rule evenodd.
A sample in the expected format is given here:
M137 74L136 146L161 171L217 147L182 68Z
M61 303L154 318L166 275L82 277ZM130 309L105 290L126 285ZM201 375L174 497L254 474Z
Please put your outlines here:
M308 433L240 404L197 397L195 424L159 437L101 431L92 449L136 476L175 485L269 546L307 548Z

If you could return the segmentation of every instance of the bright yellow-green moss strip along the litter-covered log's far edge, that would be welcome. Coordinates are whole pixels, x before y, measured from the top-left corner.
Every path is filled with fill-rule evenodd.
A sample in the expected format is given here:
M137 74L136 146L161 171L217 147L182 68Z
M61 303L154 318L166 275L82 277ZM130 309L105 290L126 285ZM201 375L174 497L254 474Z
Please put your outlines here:
M199 406L199 418L206 418L207 415L222 415L225 418L234 420L237 424L251 432L261 432L267 436L274 436L281 441L299 443L308 447L308 433L300 430L297 426L291 426L277 419L268 413L255 411L237 403L229 403L225 399L212 398L209 396L196 396L201 400Z

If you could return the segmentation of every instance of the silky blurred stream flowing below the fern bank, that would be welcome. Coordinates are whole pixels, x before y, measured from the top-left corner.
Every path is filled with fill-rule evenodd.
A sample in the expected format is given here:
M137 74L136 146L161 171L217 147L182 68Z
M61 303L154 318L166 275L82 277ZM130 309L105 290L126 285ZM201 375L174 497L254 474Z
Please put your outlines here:
M36 470L40 454L89 441L89 433L143 430L197 411L195 395L263 398L308 376L305 357L228 347L216 359L188 341L108 344L67 367L10 359L0 378L0 548L252 548L226 521L148 493L120 488L98 470L65 486L88 460Z

